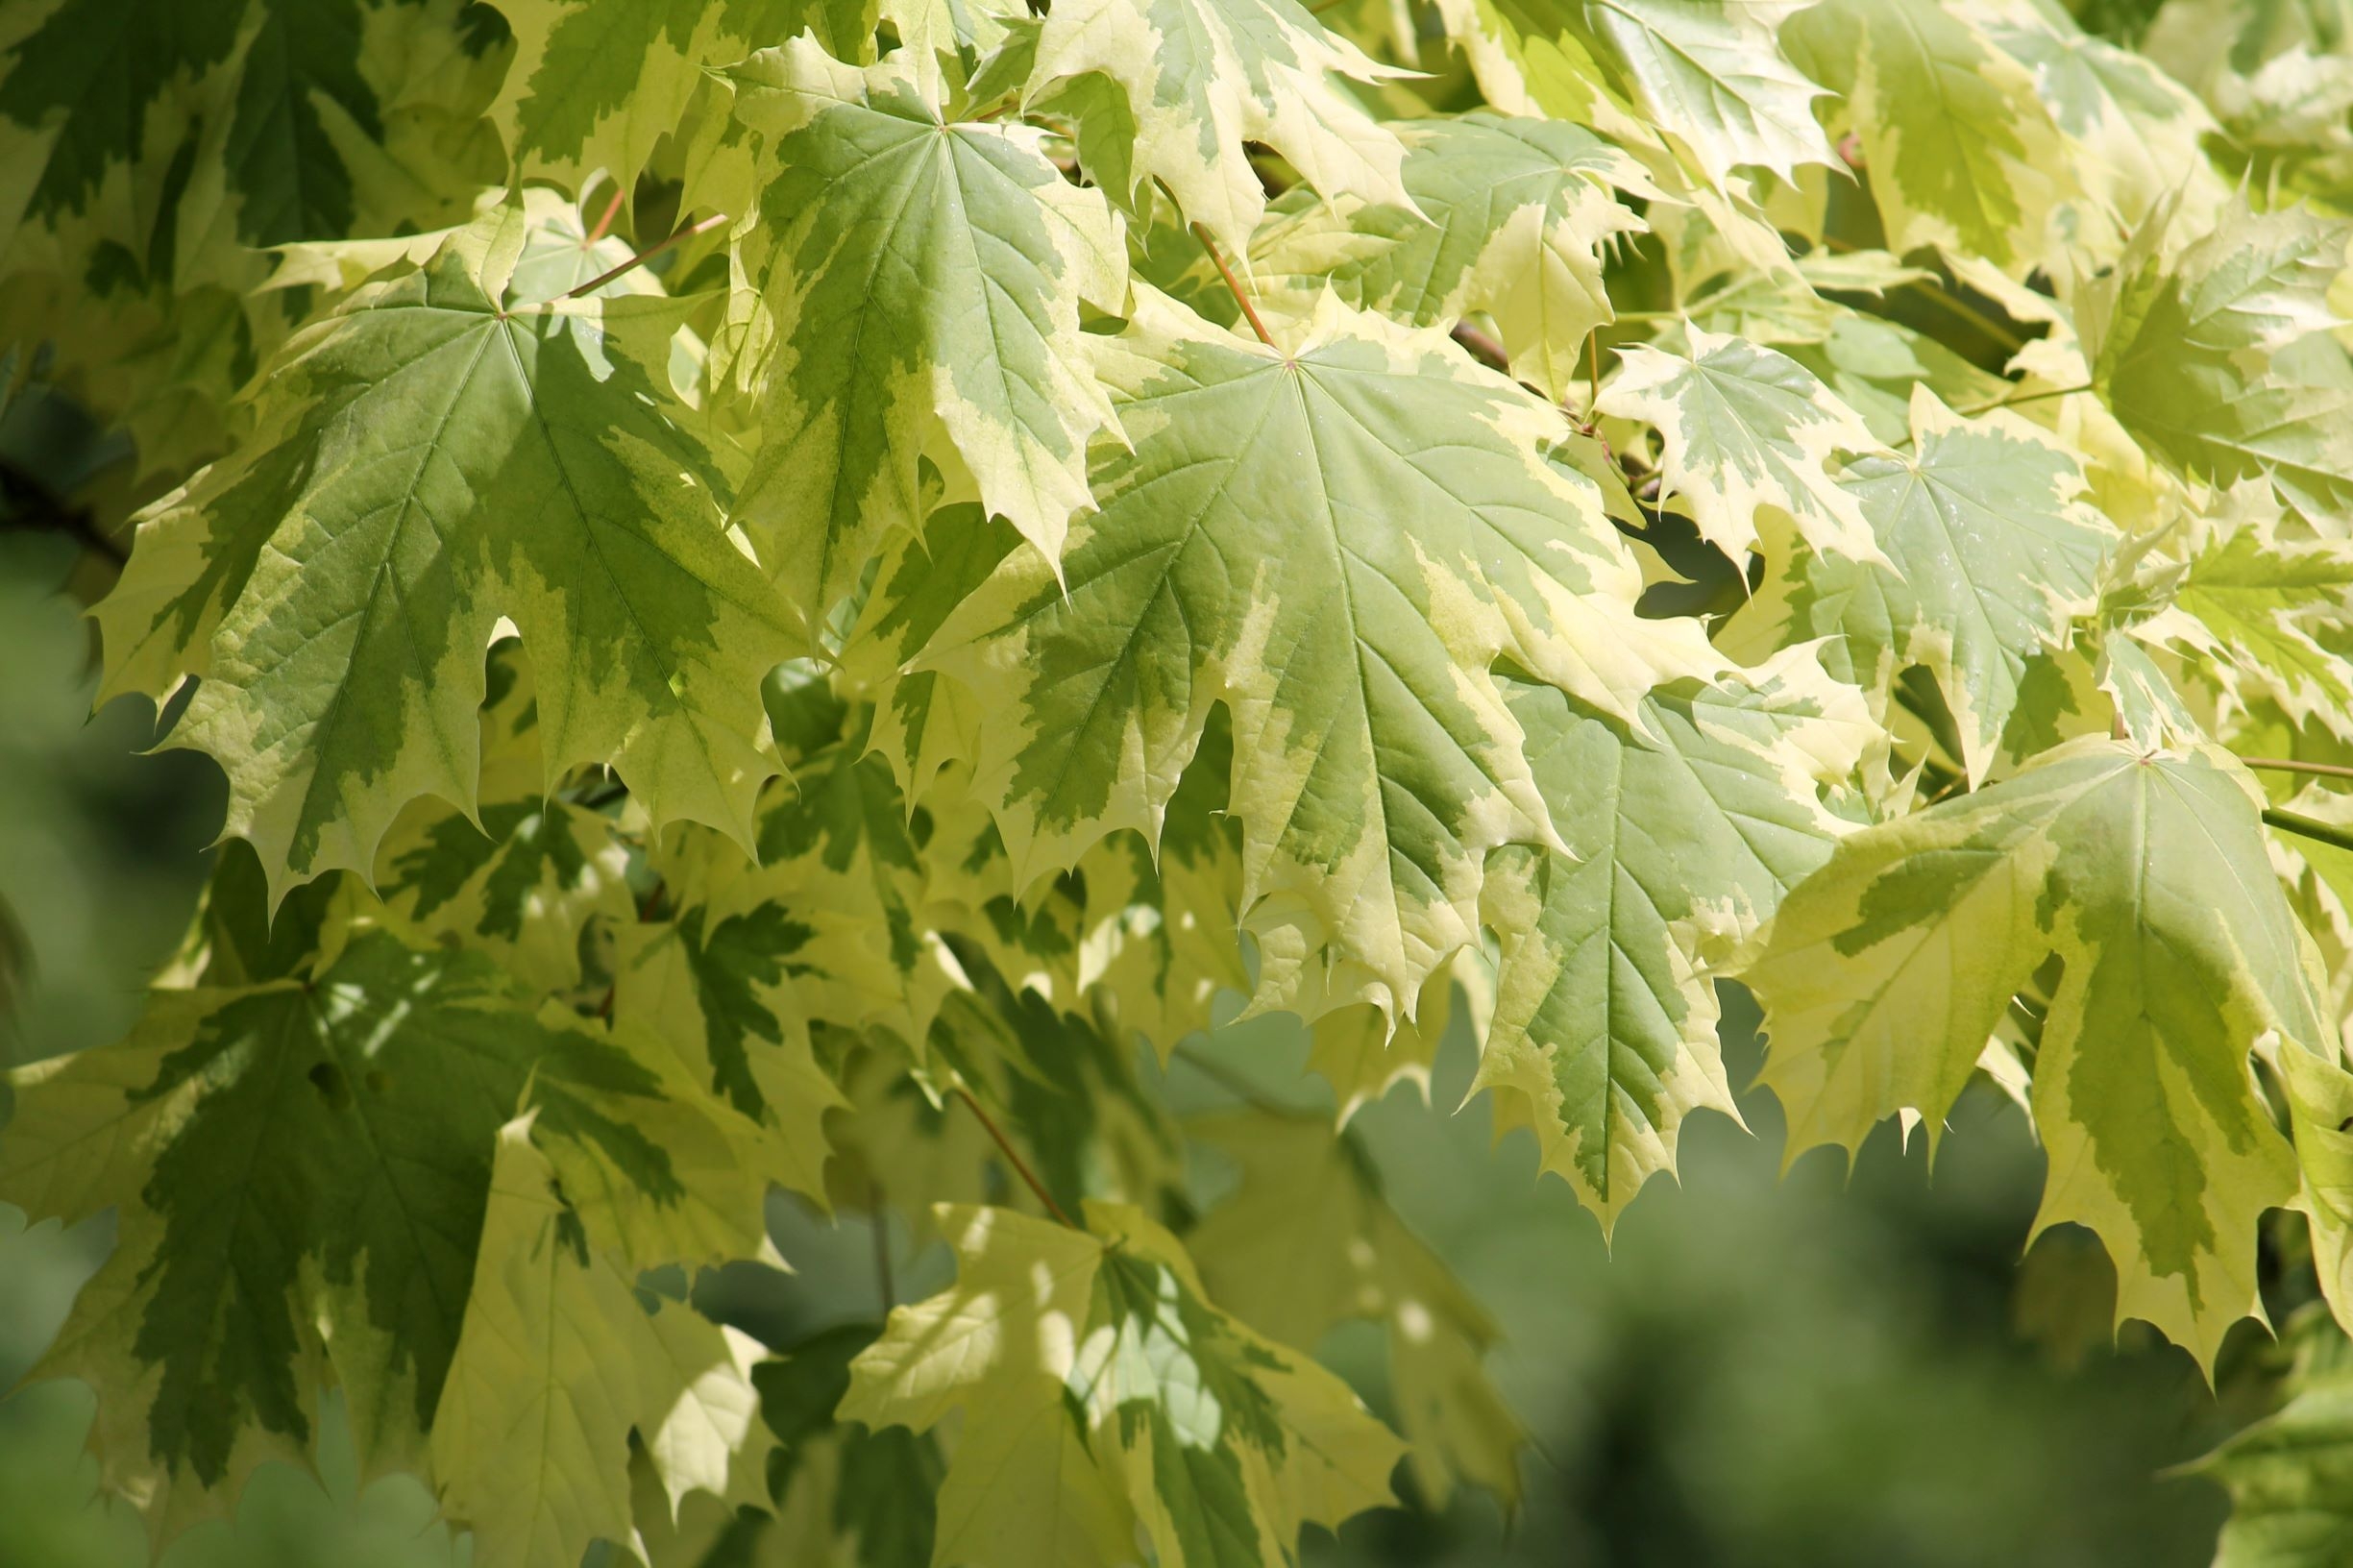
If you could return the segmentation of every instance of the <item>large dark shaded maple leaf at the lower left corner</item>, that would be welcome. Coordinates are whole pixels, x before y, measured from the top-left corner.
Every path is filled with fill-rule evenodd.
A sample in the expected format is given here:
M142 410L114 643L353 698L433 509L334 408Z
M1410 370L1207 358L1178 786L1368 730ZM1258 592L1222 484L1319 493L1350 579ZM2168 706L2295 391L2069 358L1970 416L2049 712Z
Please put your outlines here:
M386 932L301 982L158 994L129 1041L9 1083L0 1198L120 1210L47 1370L104 1389L108 1481L160 1530L226 1509L266 1457L304 1462L327 1375L362 1464L424 1457L527 1085L588 1189L619 1172L673 1215L711 1154L631 1125L666 1095L631 1048Z

